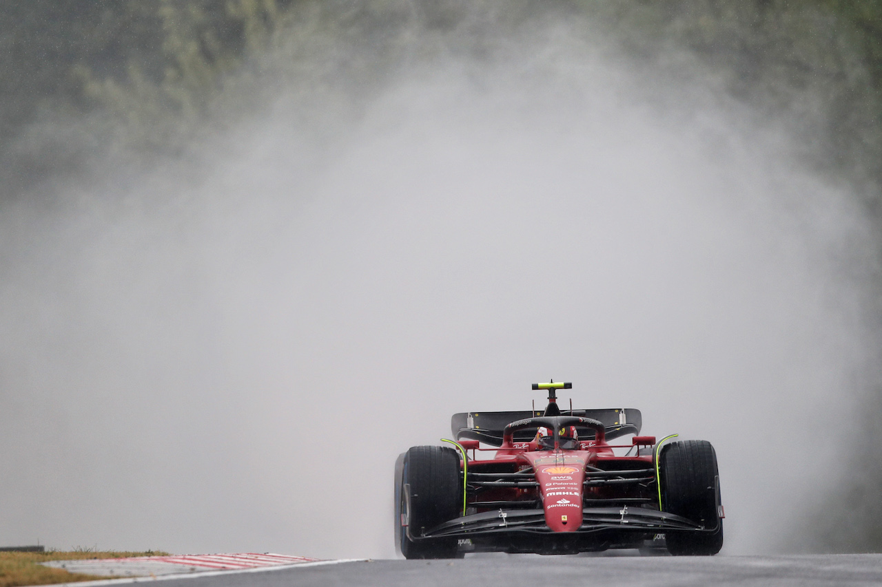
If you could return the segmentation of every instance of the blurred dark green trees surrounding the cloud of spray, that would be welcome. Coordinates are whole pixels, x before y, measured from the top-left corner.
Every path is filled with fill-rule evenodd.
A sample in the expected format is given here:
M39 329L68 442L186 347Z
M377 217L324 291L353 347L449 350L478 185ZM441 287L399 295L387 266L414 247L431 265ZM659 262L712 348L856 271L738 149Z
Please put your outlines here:
M418 47L421 32L443 34L464 19L474 26L484 8L492 16L483 26L520 32L537 14L587 15L642 63L690 55L684 67L700 69L693 81L713 79L788 121L809 163L848 182L882 236L882 0L4 0L0 204L33 197L41 182L75 174L108 150L136 160L174 155L200 121L216 122L213 104L237 72L259 70L274 51L296 78L308 71L296 63L345 53L358 38L383 62L360 75L382 77ZM673 75L676 63L664 67ZM241 94L249 82L235 83ZM317 93L318 85L310 79L298 91ZM879 504L880 467L849 499ZM882 505L855 511L848 531L819 547L882 549ZM829 525L842 526L835 518Z

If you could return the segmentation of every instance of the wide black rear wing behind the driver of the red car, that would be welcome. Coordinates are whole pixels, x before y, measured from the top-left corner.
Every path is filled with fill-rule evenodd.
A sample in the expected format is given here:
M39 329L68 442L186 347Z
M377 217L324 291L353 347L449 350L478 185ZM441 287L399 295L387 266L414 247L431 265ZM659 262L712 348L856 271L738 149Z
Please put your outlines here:
M454 413L451 418L453 436L457 440L470 439L491 446L501 446L503 429L515 420L536 418L543 412L462 412ZM602 410L561 410L562 416L579 416L600 420L606 428L606 438L611 440L624 435L639 435L643 425L643 417L634 408L608 408ZM594 438L594 429L577 427L579 438ZM514 432L515 442L528 442L536 435L535 428L526 428Z

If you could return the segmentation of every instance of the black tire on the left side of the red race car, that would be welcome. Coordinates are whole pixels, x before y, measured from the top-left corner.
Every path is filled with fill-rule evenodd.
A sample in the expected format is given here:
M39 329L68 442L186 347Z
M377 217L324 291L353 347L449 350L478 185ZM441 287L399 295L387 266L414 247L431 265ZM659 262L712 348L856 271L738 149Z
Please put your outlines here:
M405 486L409 486L409 509ZM457 540L421 541L407 538L402 522L407 519L412 536L420 536L438 524L460 516L462 477L456 450L440 446L415 446L404 454L396 518L398 549L406 559L452 559Z

